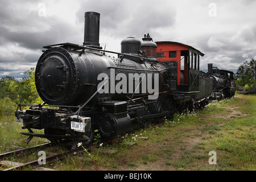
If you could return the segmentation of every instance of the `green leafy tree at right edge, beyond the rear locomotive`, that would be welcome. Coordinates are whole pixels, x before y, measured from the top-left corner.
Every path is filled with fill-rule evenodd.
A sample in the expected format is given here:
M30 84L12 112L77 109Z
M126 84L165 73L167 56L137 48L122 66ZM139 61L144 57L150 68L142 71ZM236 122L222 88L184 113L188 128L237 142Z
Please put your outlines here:
M256 86L256 60L243 62L236 73L237 86Z

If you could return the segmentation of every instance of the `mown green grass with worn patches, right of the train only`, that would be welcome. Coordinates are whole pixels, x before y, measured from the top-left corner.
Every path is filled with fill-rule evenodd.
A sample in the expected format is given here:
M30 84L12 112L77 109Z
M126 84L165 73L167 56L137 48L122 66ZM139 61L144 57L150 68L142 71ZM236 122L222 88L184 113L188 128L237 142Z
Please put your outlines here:
M135 133L149 140L138 140L135 148L105 160L125 159L115 169L255 170L255 106L256 96L238 95L204 110L175 114L163 125ZM232 115L232 110L242 114ZM209 151L216 151L216 165L208 163Z

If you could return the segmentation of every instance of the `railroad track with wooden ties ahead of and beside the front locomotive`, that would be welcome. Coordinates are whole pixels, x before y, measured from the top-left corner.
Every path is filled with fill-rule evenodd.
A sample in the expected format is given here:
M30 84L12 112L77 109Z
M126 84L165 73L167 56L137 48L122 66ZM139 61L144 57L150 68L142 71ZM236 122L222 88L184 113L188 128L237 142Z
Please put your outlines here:
M103 144L108 144L108 143L114 142L116 140L119 140L121 138L122 138L122 135L119 135L119 136L114 137L114 138L101 140L101 142ZM5 166L13 166L11 168L3 169L3 171L13 171L13 170L22 171L23 169L26 169L28 167L38 168L39 170L48 170L48 168L40 167L40 166L42 166L42 164L39 163L38 159L33 160L31 162L27 162L27 163L11 162L9 160L2 160L2 159L8 158L10 156L19 155L19 154L22 154L23 152L26 152L26 151L35 151L35 150L38 150L38 149L42 150L43 148L51 148L53 146L54 145L51 144L51 143L45 143L45 144L40 144L40 145L34 146L34 147L23 148L23 149L20 149L20 150L15 150L15 151L11 151L11 152L6 152L4 154L0 154L0 164L2 163L2 164L5 164ZM94 147L92 144L89 144L89 145L84 146L84 148L86 148L86 150L93 150L93 148L98 148L98 147ZM53 154L51 156L47 156L45 158L45 162L48 164L48 163L54 162L56 159L62 160L64 157L67 157L67 156L69 157L69 156L81 154L82 152L85 152L84 148L77 147L75 149L71 149L71 150L67 150L67 151L64 151L64 152L59 152L57 154ZM49 170L51 170L51 169L49 169Z

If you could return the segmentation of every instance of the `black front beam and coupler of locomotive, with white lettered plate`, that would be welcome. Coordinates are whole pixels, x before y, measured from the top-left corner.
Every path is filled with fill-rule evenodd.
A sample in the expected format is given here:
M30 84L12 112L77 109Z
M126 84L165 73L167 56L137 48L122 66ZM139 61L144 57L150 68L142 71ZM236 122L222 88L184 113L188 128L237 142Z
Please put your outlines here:
M27 104L19 104L15 111L15 121L22 122L22 129L28 129L28 131L30 131L30 133L21 133L29 136L26 143L28 143L33 137L73 139L81 137L79 134L76 135L77 133L86 133L90 131L91 118L75 115L70 108L50 109L43 107L46 105L30 105L30 109L22 110L22 105ZM61 130L64 131L64 133L58 134L56 132L51 135L34 134L31 129L51 129L53 131ZM72 135L74 133L75 135Z

